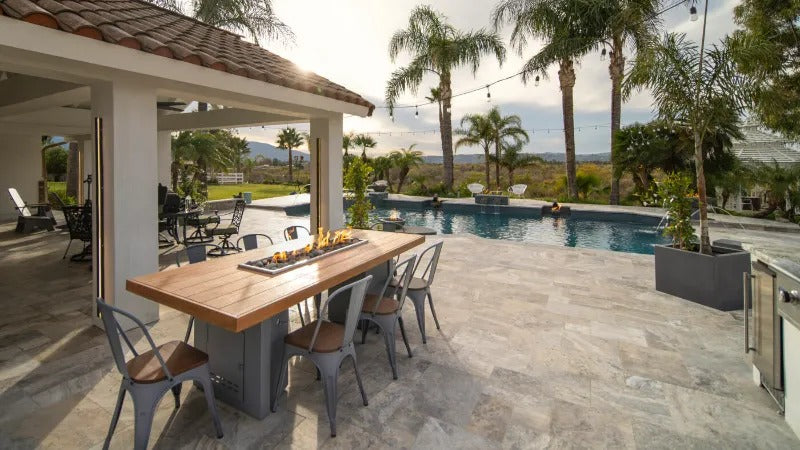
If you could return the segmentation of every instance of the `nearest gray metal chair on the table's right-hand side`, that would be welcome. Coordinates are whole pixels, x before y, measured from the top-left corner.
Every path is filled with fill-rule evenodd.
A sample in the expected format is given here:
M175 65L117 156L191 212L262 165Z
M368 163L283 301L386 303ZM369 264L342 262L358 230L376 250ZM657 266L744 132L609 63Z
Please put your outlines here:
M364 392L361 374L358 371L353 334L356 331L358 315L364 303L364 294L370 281L372 281L372 276L368 275L337 289L328 297L320 309L320 319L286 335L283 340L283 364L279 375L280 379L275 388L275 395L272 396L272 412L277 411L278 395L280 394L281 386L286 381L289 358L293 356L309 358L320 372L325 391L325 406L328 410L331 436L336 437L336 402L338 400L336 392L339 369L348 356L353 360L358 390L361 391L361 400L364 402L364 406L367 406L367 394ZM348 291L350 292L350 303L347 307L347 317L344 325L322 319L322 317L325 317L324 313L327 311L330 302Z

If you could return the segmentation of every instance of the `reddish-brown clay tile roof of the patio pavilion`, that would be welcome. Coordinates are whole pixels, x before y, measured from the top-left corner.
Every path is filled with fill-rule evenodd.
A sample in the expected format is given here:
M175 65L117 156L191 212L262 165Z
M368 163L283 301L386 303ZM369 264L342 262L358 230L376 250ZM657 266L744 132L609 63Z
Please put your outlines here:
M144 0L2 0L0 16L342 100L369 108L370 115L375 109L355 92L236 34Z

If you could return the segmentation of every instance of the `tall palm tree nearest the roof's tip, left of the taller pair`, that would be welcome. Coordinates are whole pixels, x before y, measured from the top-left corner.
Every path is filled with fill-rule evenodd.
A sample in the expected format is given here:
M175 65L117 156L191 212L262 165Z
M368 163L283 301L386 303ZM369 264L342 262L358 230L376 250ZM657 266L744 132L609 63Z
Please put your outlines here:
M472 74L478 70L481 57L494 55L502 64L506 51L497 33L484 30L463 32L447 23L447 18L429 6L417 6L411 11L408 28L398 30L389 42L389 57L407 51L411 62L395 70L386 84L386 103L394 109L397 98L405 91L416 94L427 73L438 77L441 96L439 130L442 138L444 185L453 188L453 126L450 118L450 99L453 94L451 75L454 69L467 66Z

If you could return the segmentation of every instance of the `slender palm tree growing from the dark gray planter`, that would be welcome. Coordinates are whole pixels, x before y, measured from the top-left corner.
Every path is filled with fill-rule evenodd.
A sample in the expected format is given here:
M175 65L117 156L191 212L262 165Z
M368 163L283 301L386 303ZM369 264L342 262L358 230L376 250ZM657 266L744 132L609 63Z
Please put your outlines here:
M703 63L703 53L706 62ZM700 251L710 254L708 206L704 162L709 137L738 130L739 117L748 100L746 80L736 71L725 45L706 52L685 35L667 34L647 51L640 52L625 80L625 93L646 87L653 96L660 119L688 127L694 146L694 165L700 210ZM711 146L729 144L713 142Z

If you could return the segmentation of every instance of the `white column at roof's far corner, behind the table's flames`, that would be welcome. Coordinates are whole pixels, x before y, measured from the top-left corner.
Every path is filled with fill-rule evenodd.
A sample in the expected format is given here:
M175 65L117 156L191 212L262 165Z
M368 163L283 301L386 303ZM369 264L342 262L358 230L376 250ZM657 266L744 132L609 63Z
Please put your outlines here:
M319 139L319 154L317 154L317 139ZM311 227L319 223L319 226L325 229L341 228L344 226L341 114L311 119L309 149L311 150ZM316 230L312 230L313 232Z

